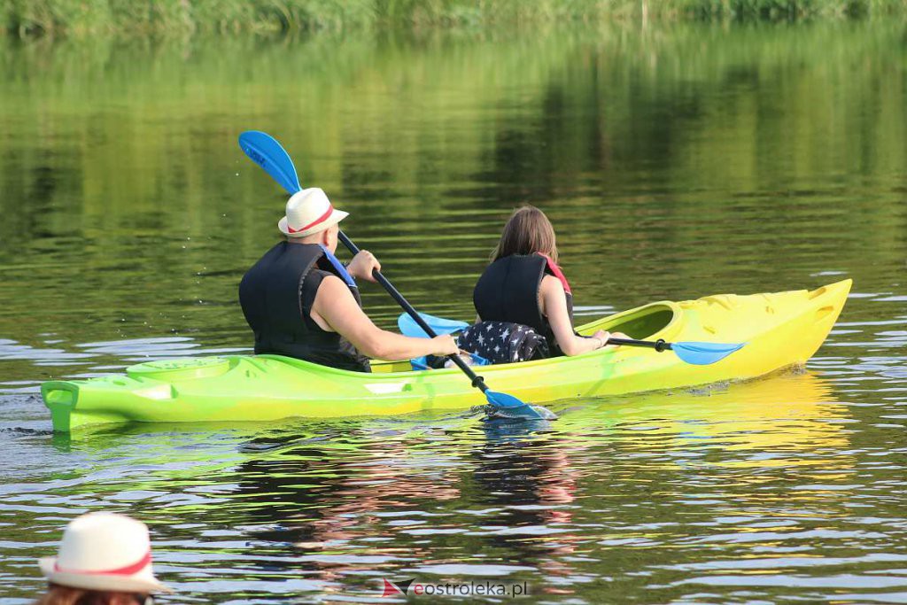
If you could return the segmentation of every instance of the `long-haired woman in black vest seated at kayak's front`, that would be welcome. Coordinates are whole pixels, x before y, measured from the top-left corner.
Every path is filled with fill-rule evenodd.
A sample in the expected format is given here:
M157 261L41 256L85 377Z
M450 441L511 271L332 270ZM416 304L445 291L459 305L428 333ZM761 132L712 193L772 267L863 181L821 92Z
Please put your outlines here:
M548 356L580 355L606 345L611 336L608 332L599 330L591 337L580 337L573 331L573 295L557 265L554 228L544 212L529 205L514 210L491 260L475 285L473 304L480 322L494 322L487 328L492 338L498 337L496 329L502 330L502 341L507 342L514 331L522 335L524 327L531 327L545 338ZM474 327L471 332L473 340L479 332ZM481 339L483 346L486 340ZM460 342L470 348L463 338ZM546 347L532 348L531 358L545 356ZM511 351L510 361L524 358ZM485 348L484 352L495 357L494 351Z

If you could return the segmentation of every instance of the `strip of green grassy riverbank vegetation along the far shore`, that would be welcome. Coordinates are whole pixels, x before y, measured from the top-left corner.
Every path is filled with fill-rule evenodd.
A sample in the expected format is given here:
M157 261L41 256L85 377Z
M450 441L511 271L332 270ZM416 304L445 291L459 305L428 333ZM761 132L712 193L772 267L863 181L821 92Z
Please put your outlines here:
M907 15L907 0L0 0L2 30L20 36L878 15Z

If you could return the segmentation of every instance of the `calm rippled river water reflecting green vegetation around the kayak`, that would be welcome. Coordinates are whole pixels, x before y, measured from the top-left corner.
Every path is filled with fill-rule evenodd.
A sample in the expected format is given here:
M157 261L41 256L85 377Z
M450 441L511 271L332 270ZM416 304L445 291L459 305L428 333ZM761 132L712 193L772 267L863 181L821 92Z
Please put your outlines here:
M907 24L0 46L0 600L79 512L152 527L170 602L907 602ZM38 385L249 350L284 141L416 307L471 317L512 207L580 314L855 280L804 371L469 415L50 432ZM377 288L366 307L391 326ZM392 601L385 599L386 601Z

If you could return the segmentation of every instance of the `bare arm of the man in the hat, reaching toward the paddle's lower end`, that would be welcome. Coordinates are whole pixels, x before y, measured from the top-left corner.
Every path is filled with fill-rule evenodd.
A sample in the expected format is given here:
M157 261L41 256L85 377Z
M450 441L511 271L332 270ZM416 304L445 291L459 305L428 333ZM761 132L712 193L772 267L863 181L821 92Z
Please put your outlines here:
M356 298L340 278L329 276L321 280L312 319L322 329L346 338L363 355L373 359L401 361L424 355L453 355L459 353L453 337L410 338L375 326L366 316Z

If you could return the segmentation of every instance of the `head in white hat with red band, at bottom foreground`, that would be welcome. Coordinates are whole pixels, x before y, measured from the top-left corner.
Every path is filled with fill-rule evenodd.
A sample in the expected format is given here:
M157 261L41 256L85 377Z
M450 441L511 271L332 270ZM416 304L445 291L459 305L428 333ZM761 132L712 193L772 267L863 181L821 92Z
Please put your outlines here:
M135 605L171 592L151 570L148 527L122 514L89 512L63 531L56 557L38 561L47 592L35 605Z

